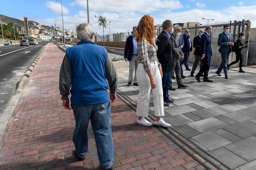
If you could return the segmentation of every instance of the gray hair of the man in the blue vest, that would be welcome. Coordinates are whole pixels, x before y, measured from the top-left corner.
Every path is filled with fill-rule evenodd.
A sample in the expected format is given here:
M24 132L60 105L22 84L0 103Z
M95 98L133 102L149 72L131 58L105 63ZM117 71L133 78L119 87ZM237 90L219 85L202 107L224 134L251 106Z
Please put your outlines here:
M85 40L93 34L93 26L89 23L82 23L76 26L76 33L79 40Z

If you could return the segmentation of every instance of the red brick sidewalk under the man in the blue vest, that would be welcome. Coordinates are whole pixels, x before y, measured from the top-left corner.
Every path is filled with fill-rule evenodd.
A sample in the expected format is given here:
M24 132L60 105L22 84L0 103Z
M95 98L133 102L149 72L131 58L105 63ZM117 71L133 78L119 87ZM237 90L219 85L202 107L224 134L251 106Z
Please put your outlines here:
M89 154L84 161L74 156L75 121L72 111L61 106L58 84L64 55L54 44L47 45L0 138L1 170L100 169L91 126ZM121 84L124 79L120 76ZM154 126L138 125L135 112L120 99L112 104L111 116L114 169L204 169Z

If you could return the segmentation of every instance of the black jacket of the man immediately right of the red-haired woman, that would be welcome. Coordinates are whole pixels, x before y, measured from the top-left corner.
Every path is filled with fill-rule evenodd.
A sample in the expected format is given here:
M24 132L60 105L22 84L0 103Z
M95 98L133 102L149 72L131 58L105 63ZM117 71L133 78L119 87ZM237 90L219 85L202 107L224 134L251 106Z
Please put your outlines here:
M173 47L170 38L165 31L162 31L157 39L157 58L162 64L162 70L165 72L171 71L173 63Z

